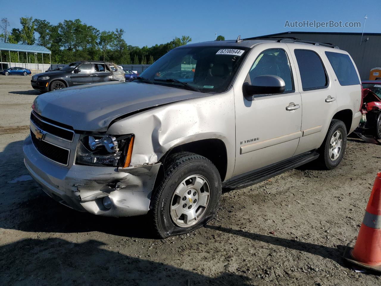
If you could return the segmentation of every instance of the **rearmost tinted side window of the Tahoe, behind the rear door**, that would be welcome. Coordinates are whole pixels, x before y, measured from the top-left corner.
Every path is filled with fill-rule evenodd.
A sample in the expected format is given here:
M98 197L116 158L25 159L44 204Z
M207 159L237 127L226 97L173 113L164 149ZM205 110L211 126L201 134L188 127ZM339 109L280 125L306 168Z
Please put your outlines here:
M325 55L330 61L340 85L360 84L356 69L348 55L332 51L326 51Z

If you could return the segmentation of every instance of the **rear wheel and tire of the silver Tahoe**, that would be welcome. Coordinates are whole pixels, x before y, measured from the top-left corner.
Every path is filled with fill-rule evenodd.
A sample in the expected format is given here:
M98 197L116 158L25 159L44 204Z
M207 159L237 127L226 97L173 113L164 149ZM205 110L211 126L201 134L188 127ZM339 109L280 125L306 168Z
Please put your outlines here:
M319 149L318 160L325 170L335 169L341 162L347 146L347 128L343 121L332 119L327 135Z

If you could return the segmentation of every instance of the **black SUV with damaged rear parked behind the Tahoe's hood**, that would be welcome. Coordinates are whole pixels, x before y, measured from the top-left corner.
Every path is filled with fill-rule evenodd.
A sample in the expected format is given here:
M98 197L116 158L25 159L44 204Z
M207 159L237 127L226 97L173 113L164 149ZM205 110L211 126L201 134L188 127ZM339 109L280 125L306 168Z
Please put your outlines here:
M93 82L125 81L125 72L114 63L104 61L76 61L59 71L43 72L32 76L30 84L35 90L51 90Z

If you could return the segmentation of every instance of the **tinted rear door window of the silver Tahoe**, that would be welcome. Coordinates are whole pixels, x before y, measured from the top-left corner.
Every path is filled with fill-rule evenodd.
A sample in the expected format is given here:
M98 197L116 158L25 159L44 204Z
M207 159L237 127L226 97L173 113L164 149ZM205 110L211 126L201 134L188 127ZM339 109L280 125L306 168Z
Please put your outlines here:
M328 77L325 73L322 60L314 51L295 50L303 90L314 90L328 86Z

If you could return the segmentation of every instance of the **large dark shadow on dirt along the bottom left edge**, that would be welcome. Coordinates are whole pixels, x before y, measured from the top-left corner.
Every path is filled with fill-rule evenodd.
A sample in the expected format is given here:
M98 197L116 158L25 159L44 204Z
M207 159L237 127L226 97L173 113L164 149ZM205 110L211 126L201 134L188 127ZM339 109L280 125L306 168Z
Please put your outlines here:
M210 278L111 251L95 240L25 239L1 246L0 255L3 285L248 285L244 276L223 272Z

